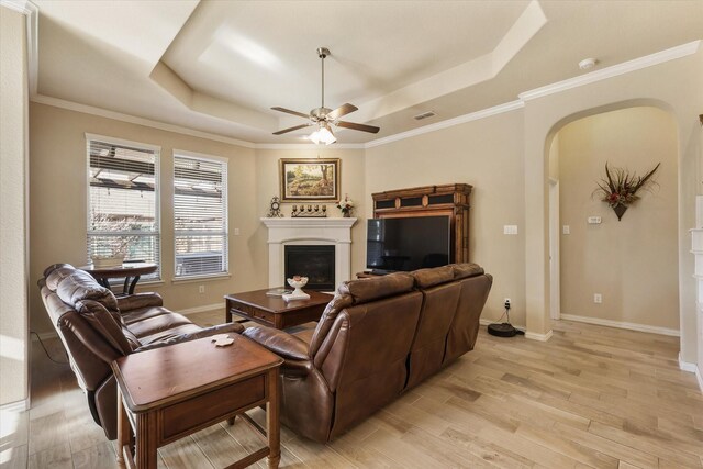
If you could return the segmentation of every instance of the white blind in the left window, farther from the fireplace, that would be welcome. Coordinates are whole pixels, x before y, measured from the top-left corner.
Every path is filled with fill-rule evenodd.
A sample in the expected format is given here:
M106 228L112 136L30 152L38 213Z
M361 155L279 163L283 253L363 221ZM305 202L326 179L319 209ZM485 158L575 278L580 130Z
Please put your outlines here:
M88 138L88 259L160 266L158 149L116 142ZM160 267L145 278L160 278Z

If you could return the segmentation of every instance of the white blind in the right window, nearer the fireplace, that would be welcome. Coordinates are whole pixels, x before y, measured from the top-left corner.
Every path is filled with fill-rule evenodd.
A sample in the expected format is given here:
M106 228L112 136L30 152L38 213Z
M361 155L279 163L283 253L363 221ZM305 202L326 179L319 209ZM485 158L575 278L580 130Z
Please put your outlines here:
M176 277L226 273L227 164L174 155Z

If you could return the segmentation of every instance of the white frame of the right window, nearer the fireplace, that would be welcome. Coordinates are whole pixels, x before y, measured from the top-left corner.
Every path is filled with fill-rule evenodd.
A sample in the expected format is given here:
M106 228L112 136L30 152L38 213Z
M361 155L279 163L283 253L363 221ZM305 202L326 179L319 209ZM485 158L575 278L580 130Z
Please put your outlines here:
M193 281L193 280L208 280L208 279L217 279L217 278L228 278L232 276L231 273L231 266L230 266L230 256L231 256L231 250L230 250L230 198L228 198L228 193L230 193L230 159L223 156L217 156L217 155L209 155L209 154L204 154L204 153L199 153L199 152L189 152L186 149L178 149L178 148L174 148L172 149L172 180L171 180L171 208L174 209L172 212L172 216L174 216L174 282L188 282L188 281ZM224 221L224 230L223 230L223 239L224 239L224 250L226 253L226 255L223 256L223 264L225 266L225 268L223 269L223 271L220 272L212 272L212 273L197 273L197 275L177 275L177 266L178 266L178 256L176 253L177 246L176 246L176 239L178 236L182 236L182 233L187 233L186 231L177 231L176 230L176 158L177 157L182 157L182 158L189 158L189 159L197 159L197 160L202 160L202 161L207 161L207 163L217 163L221 164L223 166L223 183L222 183L222 201L224 204L223 208L223 221Z

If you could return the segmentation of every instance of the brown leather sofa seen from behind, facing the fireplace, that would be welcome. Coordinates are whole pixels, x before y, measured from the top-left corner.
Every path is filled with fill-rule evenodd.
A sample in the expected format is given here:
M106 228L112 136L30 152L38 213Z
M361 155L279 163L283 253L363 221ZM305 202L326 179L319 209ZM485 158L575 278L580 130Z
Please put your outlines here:
M328 442L471 350L492 282L475 264L354 280L310 344L264 326L243 334L284 359L281 422Z

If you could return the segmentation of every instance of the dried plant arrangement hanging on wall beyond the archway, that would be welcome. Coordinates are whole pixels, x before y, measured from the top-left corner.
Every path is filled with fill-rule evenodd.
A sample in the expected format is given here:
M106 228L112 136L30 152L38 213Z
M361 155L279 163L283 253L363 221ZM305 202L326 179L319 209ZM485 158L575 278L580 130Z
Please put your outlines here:
M600 193L603 198L603 202L606 202L615 214L620 222L625 211L636 200L639 199L637 191L639 189L647 189L647 187L654 182L650 178L659 169L661 163L658 163L645 176L637 176L636 174L629 174L623 168L609 169L607 163L605 163L605 178L598 182L598 189L593 193Z

